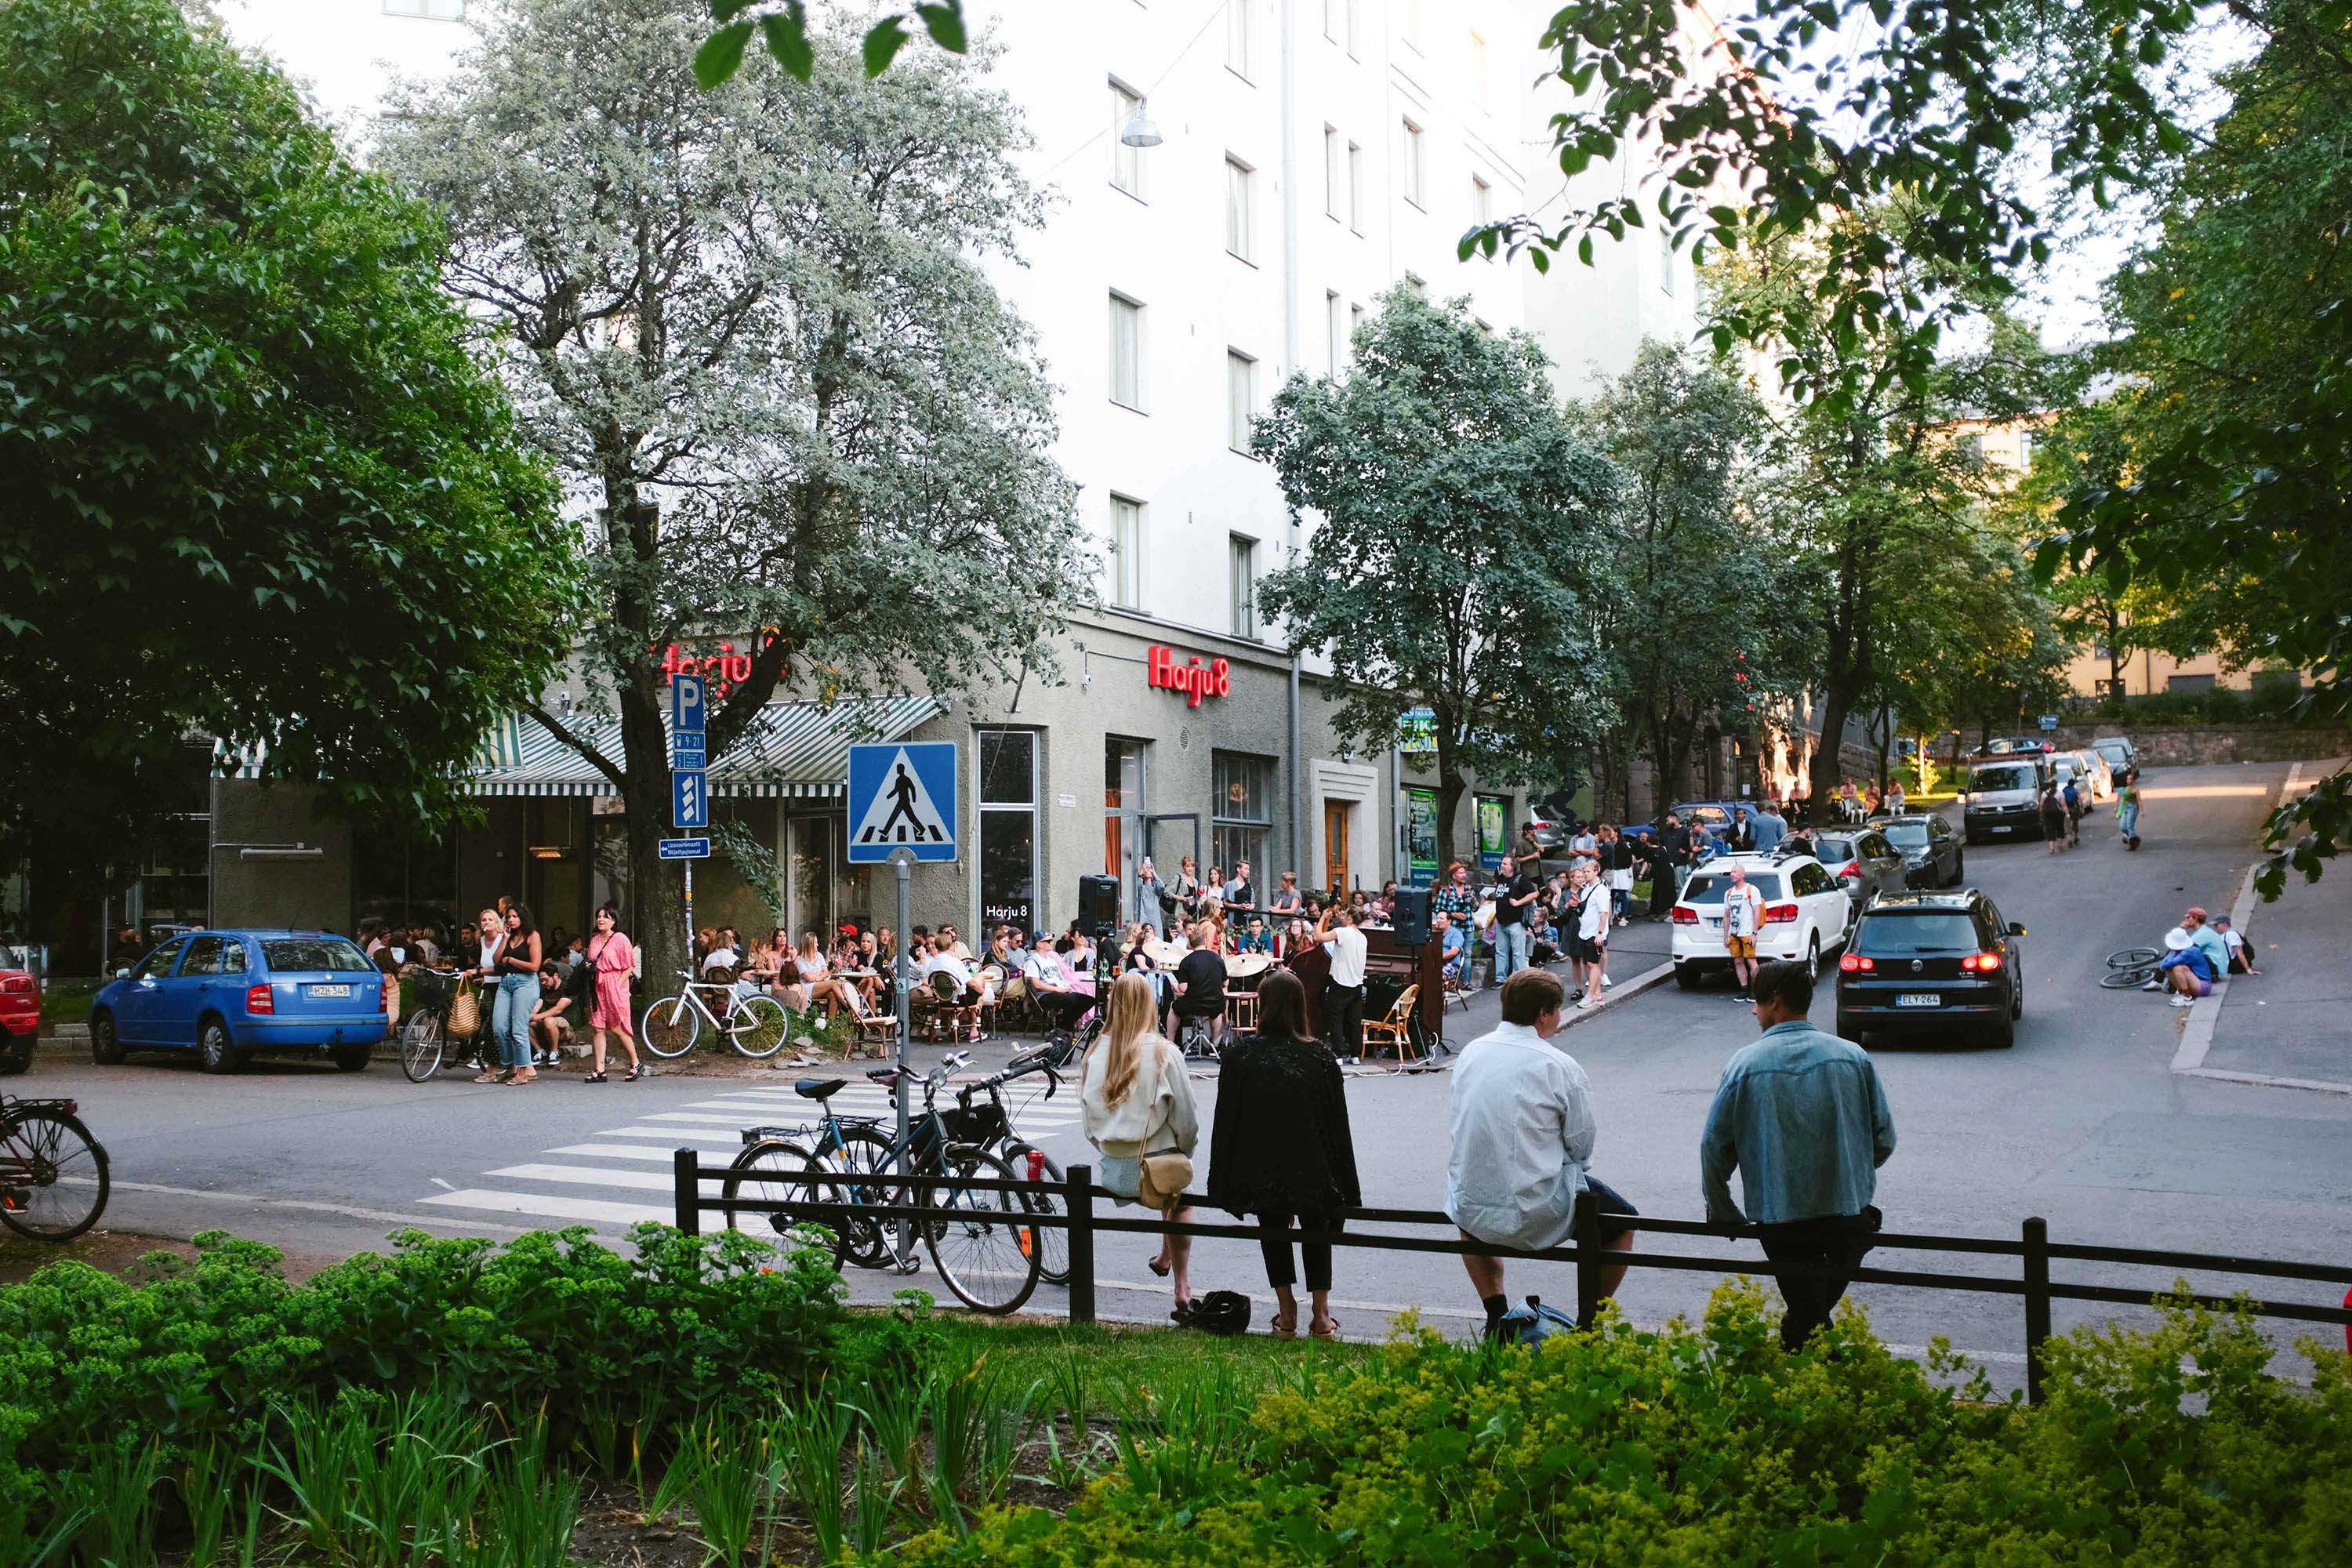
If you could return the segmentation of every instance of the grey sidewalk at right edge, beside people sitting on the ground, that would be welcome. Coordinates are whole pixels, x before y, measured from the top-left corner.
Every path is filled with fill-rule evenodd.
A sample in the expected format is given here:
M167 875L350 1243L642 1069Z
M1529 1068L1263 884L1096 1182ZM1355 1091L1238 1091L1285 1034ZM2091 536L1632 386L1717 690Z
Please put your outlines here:
M2310 785L2338 762L2305 762ZM2183 1032L2173 1072L2234 1084L2352 1095L2352 875L2331 865L2319 882L2288 875L2277 903L2251 886L2232 919L2253 966L2213 987Z

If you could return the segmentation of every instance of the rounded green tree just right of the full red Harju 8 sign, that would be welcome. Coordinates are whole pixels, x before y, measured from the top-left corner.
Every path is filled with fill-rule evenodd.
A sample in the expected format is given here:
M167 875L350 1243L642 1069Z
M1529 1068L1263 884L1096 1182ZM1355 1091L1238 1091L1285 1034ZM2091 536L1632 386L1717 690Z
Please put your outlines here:
M1294 515L1317 512L1258 604L1329 654L1352 748L1385 752L1406 710L1435 715L1439 842L1472 773L1573 776L1606 722L1592 616L1618 470L1569 428L1543 350L1468 301L1390 289L1348 374L1294 376L1251 451Z

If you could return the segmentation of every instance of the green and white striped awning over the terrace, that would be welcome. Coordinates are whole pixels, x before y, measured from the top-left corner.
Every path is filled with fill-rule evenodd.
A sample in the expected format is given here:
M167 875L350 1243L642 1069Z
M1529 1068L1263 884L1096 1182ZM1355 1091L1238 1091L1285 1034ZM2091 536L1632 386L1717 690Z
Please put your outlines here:
M724 757L710 762L722 797L828 799L849 785L849 748L896 741L943 712L938 698L896 696L844 703L769 703ZM562 722L586 745L621 762L621 719L572 715ZM492 731L470 771L473 795L614 795L593 762L527 715Z

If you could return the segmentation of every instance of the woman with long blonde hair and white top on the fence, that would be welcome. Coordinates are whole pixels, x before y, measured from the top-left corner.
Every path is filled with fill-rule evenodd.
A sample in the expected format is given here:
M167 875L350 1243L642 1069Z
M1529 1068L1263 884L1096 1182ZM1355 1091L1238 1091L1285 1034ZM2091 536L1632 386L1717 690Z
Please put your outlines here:
M1127 971L1110 987L1108 1023L1080 1063L1080 1107L1087 1143L1103 1154L1101 1182L1122 1204L1134 1201L1150 1154L1192 1157L1200 1114L1183 1053L1152 1027L1152 983ZM1169 1211L1169 1222L1190 1225L1192 1206ZM1192 1239L1164 1237L1160 1255L1145 1260L1152 1274L1176 1274L1176 1321L1192 1309Z

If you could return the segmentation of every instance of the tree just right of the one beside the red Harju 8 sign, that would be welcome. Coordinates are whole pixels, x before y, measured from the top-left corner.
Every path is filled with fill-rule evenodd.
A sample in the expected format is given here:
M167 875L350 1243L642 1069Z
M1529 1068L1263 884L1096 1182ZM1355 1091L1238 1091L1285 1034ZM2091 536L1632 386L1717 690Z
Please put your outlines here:
M1658 790L1679 788L1710 724L1750 733L1750 715L1804 684L1811 639L1788 614L1797 567L1748 494L1766 423L1738 376L1644 341L1569 423L1625 475L1602 543L1616 585L1592 625L1609 651L1604 773L1632 818L1628 762L1646 757Z

